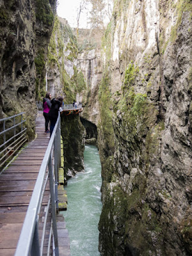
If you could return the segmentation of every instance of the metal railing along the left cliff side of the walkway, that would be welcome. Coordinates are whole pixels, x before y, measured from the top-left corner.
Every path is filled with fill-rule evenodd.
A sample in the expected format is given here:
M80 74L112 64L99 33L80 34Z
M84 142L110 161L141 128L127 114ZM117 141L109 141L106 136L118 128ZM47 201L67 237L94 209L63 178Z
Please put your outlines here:
M23 128L23 124L26 122L26 120L23 120L24 113L25 112L22 112L17 115L0 119L0 124L1 124L0 167L2 167L6 162L10 161L10 158L14 156L15 152L17 152L17 150L19 150L19 148L21 148L22 145L27 141L27 138L26 138L27 129ZM15 124L15 118L20 118L20 120L17 120L18 124ZM10 127L6 128L6 122L10 120L12 121L13 124L10 125ZM7 139L8 136L9 138Z

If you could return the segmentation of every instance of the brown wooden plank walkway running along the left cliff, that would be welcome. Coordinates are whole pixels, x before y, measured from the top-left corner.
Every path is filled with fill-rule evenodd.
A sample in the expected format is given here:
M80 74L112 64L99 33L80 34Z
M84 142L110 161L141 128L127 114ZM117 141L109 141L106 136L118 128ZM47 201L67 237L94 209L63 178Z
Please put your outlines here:
M31 141L0 175L0 256L13 256L15 253L38 171L49 143L49 134L44 132L44 124L44 116L42 111L39 111L36 118L36 139ZM43 228L48 199L49 188L47 187L39 219L40 230ZM58 214L57 221L60 256L69 256L68 230L65 228L64 217ZM47 234L43 255L47 255L48 237Z

